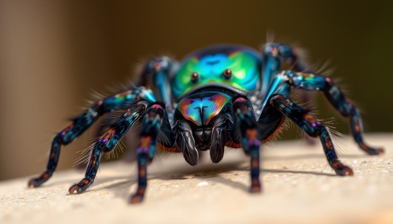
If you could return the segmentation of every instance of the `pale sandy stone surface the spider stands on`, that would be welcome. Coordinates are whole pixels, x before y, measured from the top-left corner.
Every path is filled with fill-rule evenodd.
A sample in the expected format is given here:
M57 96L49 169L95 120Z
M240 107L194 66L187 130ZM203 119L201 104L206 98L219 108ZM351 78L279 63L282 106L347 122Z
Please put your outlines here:
M136 166L102 164L85 193L68 188L83 173L56 172L42 187L28 178L0 182L0 223L393 223L393 135L369 135L384 155L368 156L338 140L340 158L353 177L335 176L320 144L279 142L263 151L263 193L250 194L249 162L242 150L220 164L208 153L196 167L181 155L160 156L148 168L142 204L129 205L136 189ZM26 166L28 169L28 166Z

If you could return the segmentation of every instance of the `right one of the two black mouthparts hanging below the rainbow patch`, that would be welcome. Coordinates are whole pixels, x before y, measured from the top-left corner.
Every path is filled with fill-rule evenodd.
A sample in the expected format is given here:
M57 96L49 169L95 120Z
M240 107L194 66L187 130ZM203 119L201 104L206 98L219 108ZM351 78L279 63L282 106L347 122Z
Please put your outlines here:
M224 146L226 143L226 127L230 121L230 115L217 116L213 122L210 140L210 158L214 163L218 163L224 156Z

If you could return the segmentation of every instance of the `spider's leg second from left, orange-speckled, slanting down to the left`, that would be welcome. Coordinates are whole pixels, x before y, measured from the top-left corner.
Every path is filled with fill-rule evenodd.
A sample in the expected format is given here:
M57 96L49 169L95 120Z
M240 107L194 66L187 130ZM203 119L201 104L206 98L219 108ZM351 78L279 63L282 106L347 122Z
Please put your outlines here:
M97 174L99 162L102 153L112 151L116 144L121 140L124 134L137 122L145 113L148 101L143 100L132 104L123 115L118 117L109 127L108 131L95 142L88 166L86 168L85 177L78 183L71 186L69 192L81 193L90 186Z

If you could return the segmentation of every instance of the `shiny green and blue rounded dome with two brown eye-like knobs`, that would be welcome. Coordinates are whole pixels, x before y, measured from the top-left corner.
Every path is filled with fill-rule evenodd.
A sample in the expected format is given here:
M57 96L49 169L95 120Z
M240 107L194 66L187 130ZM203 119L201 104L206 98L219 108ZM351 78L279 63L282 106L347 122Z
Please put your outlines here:
M179 99L207 86L252 92L259 88L261 60L257 51L237 45L217 45L188 56L171 81Z

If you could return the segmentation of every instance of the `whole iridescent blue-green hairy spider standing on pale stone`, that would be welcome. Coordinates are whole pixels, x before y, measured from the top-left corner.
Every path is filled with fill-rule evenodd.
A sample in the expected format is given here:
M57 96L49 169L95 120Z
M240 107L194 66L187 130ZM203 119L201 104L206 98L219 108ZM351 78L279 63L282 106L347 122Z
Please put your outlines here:
M286 63L293 71L281 71ZM38 187L56 169L61 146L83 134L101 115L127 110L92 147L85 177L70 187L70 194L84 192L94 181L103 153L110 152L125 133L141 121L137 148L138 189L130 203L143 200L147 165L157 149L182 153L191 166L198 164L198 150L209 150L213 163L222 160L225 146L242 148L250 156L251 192L260 192L259 150L274 138L289 118L310 137L320 138L327 161L337 175L353 175L340 162L329 131L310 110L290 99L291 89L321 91L343 117L349 118L354 140L369 155L383 153L364 143L358 110L327 77L304 73L305 63L286 44L265 44L262 52L246 46L215 45L191 53L182 62L154 58L141 72L141 85L99 100L54 138L49 161L28 185ZM149 87L156 90L157 97Z

